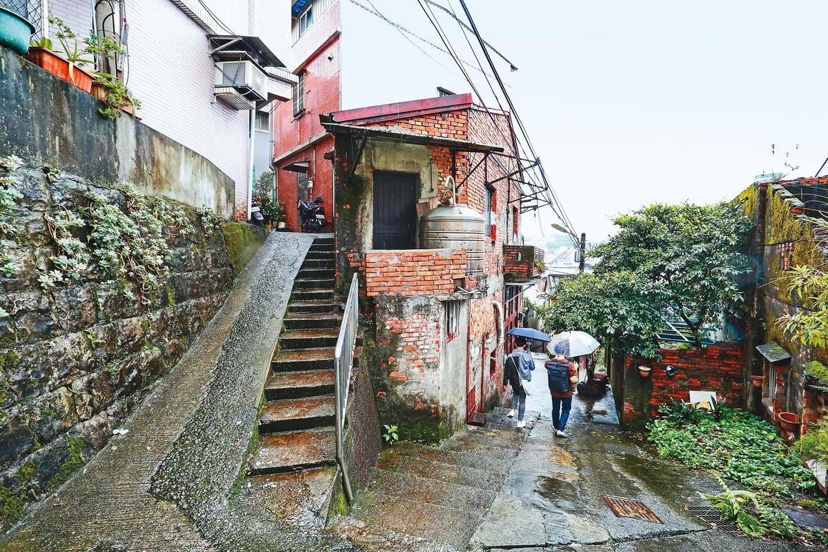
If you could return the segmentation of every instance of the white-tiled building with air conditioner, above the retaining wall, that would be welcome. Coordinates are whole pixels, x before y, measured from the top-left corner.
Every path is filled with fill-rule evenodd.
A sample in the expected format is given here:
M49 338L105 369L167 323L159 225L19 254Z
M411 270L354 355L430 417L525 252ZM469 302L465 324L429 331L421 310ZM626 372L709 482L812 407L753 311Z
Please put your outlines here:
M228 175L235 183L233 217L248 219L254 175L270 170L270 156L257 151L272 151L272 102L290 98L296 81L282 68L290 46L289 0L24 3L28 17L41 20L34 22L39 35L55 38L42 13L48 5L48 15L63 19L80 39L106 33L121 41L128 57L119 60L118 77L141 100L142 122ZM216 85L217 66L228 61L250 62L248 70L263 75L257 93L242 97L240 87Z

